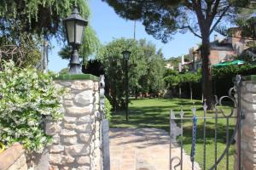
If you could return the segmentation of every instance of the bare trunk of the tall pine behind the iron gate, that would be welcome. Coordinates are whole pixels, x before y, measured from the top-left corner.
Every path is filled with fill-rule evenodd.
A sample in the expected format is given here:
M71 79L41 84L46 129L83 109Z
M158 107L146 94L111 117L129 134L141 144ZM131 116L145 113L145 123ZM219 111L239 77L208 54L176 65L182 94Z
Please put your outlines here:
M204 35L204 34L202 34ZM208 35L208 34L206 34ZM207 99L207 110L213 109L212 94L212 70L209 60L210 41L209 36L202 37L201 58L202 58L202 92L204 99Z

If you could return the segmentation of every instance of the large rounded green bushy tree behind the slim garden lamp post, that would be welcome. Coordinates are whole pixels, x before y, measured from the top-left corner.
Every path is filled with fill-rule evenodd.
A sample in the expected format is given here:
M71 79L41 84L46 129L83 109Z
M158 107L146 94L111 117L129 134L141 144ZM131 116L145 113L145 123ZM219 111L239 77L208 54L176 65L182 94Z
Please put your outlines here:
M164 88L164 59L161 51L146 40L115 39L109 42L101 55L110 89L110 101L114 110L125 106L125 60L122 52L131 51L129 59L129 91L138 96L140 93L158 93Z

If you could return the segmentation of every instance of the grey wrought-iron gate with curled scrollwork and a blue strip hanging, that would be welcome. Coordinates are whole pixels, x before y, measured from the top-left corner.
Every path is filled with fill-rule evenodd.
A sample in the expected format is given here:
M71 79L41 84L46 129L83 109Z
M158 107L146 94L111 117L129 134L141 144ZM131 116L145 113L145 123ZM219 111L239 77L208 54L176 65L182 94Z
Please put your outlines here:
M232 92L236 93L236 97L232 95ZM226 114L222 109L217 107L218 105L221 106L223 104L224 99L229 99L233 104L234 108L230 109L230 113ZM183 170L184 163L183 163L183 121L191 121L192 122L192 140L191 140L191 153L190 153L190 161L191 161L191 169L195 169L195 152L196 150L196 131L202 130L203 132L203 164L201 166L201 169L205 170L206 162L207 162L207 120L214 120L214 148L212 148L212 155L214 155L214 164L209 168L217 169L220 161L222 161L225 158L226 160L226 169L233 169L234 167L229 166L229 149L230 144L233 144L234 141L236 141L237 147L236 147L236 153L237 153L237 170L241 170L241 120L244 117L241 112L241 76L236 76L236 83L234 88L230 88L229 95L223 96L220 99L215 96L216 104L214 107L214 115L213 114L207 114L207 105L206 101L204 102L203 116L196 116L196 109L195 106L192 107L193 116L185 116L185 113L182 110L179 113L175 113L174 111L170 112L170 170L176 170L180 169ZM234 129L233 134L230 134L230 120L235 119L236 120L236 126ZM203 126L202 129L196 129L197 127L197 120L203 120ZM225 143L226 147L224 150L222 150L222 153L220 156L218 156L218 120L225 120L226 122L226 128L225 128ZM180 124L180 127L177 126L177 123ZM177 136L180 136L177 142ZM236 137L236 138L235 138ZM172 156L173 153L173 147L180 147L180 155L179 156ZM196 167L197 169L198 167Z

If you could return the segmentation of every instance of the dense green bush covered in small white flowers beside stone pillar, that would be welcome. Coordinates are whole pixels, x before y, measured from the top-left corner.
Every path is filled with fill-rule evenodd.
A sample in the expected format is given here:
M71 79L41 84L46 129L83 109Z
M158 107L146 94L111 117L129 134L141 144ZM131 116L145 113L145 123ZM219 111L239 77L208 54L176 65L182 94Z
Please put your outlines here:
M44 133L45 117L59 120L60 96L53 75L4 62L0 71L0 142L23 144L28 152L42 152L51 137Z

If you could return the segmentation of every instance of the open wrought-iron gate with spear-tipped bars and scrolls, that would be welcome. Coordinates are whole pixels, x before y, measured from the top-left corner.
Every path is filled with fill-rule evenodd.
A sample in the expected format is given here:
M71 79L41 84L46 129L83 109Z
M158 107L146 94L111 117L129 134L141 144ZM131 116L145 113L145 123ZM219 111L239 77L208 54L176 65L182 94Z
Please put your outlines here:
M223 109L223 103L224 101L226 101L226 99L230 100L232 102L232 105L234 105L234 108L230 108L230 111L228 113L226 113L227 111ZM224 169L218 168L221 161L225 161L225 169L234 169L234 167L230 167L229 165L230 145L234 143L236 144L236 161L238 161L236 169L241 170L241 119L243 118L243 114L241 112L241 76L236 76L235 86L234 88L230 88L228 96L223 96L220 99L215 97L215 100L216 103L212 114L207 113L206 101L202 106L203 114L201 116L197 116L195 105L193 105L191 109L193 113L192 116L191 114L190 116L186 116L186 113L183 111L183 107L178 113L175 113L174 111L170 112L170 170ZM201 122L200 127L198 127L199 121ZM189 153L189 156L184 155L183 151L184 122L186 122L187 124L190 123L189 125L191 125L191 140L189 140L189 145L191 145L191 151ZM212 125L210 125L210 122ZM218 122L225 123L225 127L222 128L222 133L225 133L225 137L221 137L222 140L224 139L224 149L218 148L218 131L220 130L218 127ZM212 147L211 153L207 153L207 138L209 138L209 135L207 137L207 126L212 126L212 131L214 131L214 133L212 132L212 139L214 138L214 146ZM200 139L200 142L203 145L202 150L196 149L196 144L199 141L199 135L201 135L202 137ZM186 142L188 144L188 141ZM177 152L177 148L179 153ZM219 153L219 150L221 150L221 153ZM202 156L201 167L195 166L195 153ZM207 166L207 161L209 161L209 159L207 159L207 154L209 154L210 156L213 155L213 163L211 166ZM189 157L189 166L188 161L184 163L184 156L187 156L185 157L187 159Z

